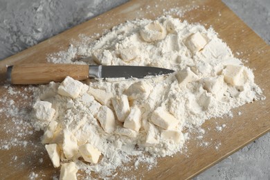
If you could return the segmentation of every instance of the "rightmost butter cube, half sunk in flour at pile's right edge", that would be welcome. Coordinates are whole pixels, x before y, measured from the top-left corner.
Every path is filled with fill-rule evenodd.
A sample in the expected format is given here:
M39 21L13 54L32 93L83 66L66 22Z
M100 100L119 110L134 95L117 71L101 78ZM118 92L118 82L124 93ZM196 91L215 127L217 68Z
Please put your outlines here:
M224 75L226 83L233 86L239 86L244 84L243 71L243 66L227 65L226 68L222 70L222 75Z

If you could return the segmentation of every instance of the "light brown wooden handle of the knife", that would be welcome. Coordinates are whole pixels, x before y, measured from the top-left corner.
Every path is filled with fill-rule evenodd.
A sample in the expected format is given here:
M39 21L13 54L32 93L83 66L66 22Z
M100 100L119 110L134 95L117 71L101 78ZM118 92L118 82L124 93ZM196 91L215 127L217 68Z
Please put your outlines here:
M10 84L48 84L62 82L66 76L75 80L89 78L89 65L82 64L16 64L8 66Z

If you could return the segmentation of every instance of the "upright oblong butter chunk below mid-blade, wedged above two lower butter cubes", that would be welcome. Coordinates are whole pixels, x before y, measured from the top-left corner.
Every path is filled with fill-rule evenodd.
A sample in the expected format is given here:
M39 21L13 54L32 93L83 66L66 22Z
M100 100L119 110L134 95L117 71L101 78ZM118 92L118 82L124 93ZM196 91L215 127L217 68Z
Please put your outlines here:
M126 95L117 96L111 99L114 111L120 122L124 122L125 118L129 114L129 100Z

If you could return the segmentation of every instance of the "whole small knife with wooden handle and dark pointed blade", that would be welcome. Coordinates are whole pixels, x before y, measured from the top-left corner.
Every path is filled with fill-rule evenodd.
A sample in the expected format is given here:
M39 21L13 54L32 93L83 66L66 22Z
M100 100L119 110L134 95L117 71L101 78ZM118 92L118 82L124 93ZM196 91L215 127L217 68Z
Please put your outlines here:
M8 66L10 84L48 84L62 82L66 76L75 80L87 78L144 78L165 75L173 70L152 66L89 66L82 64L16 64Z

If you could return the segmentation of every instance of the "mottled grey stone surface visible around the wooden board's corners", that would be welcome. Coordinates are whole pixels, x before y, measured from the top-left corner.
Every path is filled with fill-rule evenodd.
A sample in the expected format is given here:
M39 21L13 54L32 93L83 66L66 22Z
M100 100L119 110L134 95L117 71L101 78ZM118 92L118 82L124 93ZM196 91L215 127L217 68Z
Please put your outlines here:
M0 60L125 1L0 0ZM223 1L270 44L270 0ZM270 179L269 147L266 134L195 179Z

